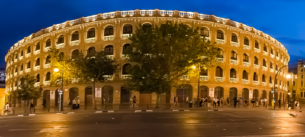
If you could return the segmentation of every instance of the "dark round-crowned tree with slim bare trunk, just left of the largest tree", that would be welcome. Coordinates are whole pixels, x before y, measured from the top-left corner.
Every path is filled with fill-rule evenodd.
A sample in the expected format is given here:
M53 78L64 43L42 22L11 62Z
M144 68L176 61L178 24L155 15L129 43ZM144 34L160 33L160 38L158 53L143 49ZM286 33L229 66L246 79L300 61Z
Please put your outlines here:
M90 51L86 55L80 53L74 57L74 62L79 71L80 83L92 83L93 109L96 110L95 85L111 79L117 70L116 61L106 56L104 51Z

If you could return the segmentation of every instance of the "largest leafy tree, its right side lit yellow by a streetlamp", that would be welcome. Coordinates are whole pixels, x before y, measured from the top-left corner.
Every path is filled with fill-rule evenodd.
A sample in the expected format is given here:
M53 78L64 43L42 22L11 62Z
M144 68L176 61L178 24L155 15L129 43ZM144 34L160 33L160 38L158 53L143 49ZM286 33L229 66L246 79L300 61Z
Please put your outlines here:
M219 54L214 44L205 41L185 24L164 23L152 28L140 26L129 38L126 49L129 60L135 62L127 80L129 87L141 92L157 94L156 108L161 93L177 86L181 76L192 73L192 66L212 66Z

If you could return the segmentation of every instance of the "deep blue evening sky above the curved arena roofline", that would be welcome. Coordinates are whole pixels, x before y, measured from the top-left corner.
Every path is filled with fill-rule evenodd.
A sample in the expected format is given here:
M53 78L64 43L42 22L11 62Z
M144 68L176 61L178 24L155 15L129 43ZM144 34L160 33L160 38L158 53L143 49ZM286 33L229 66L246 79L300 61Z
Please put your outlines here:
M264 31L288 49L290 65L305 59L304 0L0 0L0 67L13 44L66 20L116 10L164 9L213 14Z

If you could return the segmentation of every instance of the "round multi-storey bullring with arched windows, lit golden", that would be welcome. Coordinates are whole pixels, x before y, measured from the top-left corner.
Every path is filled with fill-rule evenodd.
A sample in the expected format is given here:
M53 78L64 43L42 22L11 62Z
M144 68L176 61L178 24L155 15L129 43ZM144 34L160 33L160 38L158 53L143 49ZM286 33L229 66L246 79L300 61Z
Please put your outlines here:
M182 76L180 86L169 93L160 96L160 103L172 102L174 95L178 101L185 102L186 97L198 96L243 97L244 99L258 99L273 97L271 87L275 74L279 68L288 65L287 49L270 35L242 23L224 19L214 15L197 12L183 12L178 10L129 10L81 17L50 26L18 41L5 56L6 91L7 98L20 106L21 100L16 99L14 91L17 89L20 77L29 73L37 78L36 87L41 87L41 97L34 100L37 108L42 100L50 106L58 105L57 87L50 85L51 65L48 49L57 48L65 56L73 58L80 52L106 51L109 58L116 59L119 72L109 75L105 83L98 83L96 88L97 104L131 103L131 97L136 96L139 104L155 104L156 94L140 94L130 91L125 86L129 74L125 70L131 65L126 59L124 49L129 46L128 37L134 33L139 25L152 27L171 21L184 23L191 28L199 28L199 33L207 40L216 42L221 56L217 65L207 71L202 70L200 76ZM287 97L288 67L283 68L275 79L278 92L274 99ZM198 79L200 83L198 85ZM101 94L105 95L102 100ZM169 96L170 95L170 96ZM88 84L71 83L64 86L64 102L79 97L81 106L92 106L92 86ZM270 98L269 98L270 97ZM66 105L66 103L65 103Z

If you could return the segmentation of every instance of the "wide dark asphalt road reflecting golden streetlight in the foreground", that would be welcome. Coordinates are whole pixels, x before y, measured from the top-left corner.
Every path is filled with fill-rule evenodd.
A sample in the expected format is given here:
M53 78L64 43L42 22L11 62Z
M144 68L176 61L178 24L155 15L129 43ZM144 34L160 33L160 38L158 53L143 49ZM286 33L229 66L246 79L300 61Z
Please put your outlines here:
M189 111L0 117L0 137L305 136L305 112Z

